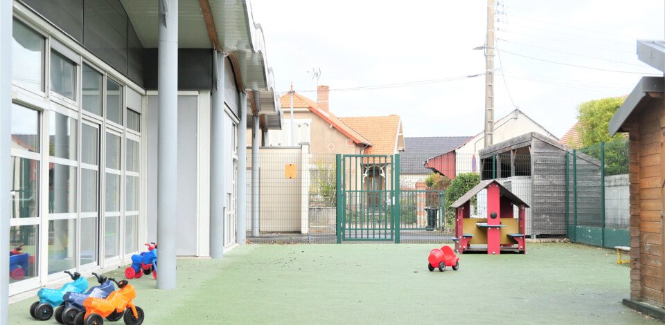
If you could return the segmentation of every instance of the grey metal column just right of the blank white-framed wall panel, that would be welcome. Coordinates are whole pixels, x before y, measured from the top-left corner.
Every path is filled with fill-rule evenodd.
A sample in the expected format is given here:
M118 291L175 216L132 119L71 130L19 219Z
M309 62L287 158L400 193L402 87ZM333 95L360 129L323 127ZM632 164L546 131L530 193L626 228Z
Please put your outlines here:
M210 142L210 257L224 257L224 205L227 193L224 190L224 171L227 157L224 157L224 133L226 128L224 111L224 53L213 54L213 110L212 134ZM229 157L230 159L230 157Z

